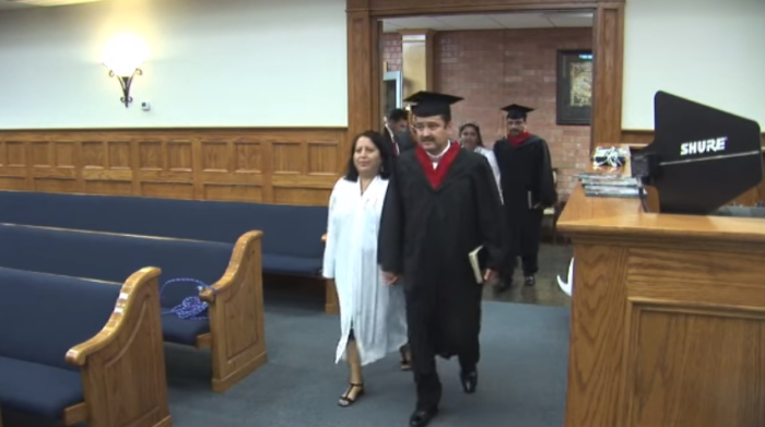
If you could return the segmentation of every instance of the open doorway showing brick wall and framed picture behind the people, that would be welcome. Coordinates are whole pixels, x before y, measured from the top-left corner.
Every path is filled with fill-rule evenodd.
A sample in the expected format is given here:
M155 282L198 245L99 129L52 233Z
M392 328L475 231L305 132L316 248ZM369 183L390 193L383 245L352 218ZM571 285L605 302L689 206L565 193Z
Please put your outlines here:
M529 129L548 141L565 199L589 162L593 14L568 10L382 19L381 109L405 106L402 99L426 85L463 97L452 108L455 123L476 122L487 140L506 132L499 108L514 103L534 108ZM423 49L404 54L412 35L432 38L432 57L425 58ZM432 62L426 83L420 72L425 61Z

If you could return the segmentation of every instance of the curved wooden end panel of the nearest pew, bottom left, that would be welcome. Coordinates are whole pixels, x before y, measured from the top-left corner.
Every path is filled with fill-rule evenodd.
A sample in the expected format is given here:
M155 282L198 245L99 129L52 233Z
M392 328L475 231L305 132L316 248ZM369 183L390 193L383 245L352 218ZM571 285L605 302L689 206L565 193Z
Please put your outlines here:
M67 352L67 361L81 368L89 425L111 425L115 419L141 419L145 426L172 423L160 274L156 268L133 273L101 332Z

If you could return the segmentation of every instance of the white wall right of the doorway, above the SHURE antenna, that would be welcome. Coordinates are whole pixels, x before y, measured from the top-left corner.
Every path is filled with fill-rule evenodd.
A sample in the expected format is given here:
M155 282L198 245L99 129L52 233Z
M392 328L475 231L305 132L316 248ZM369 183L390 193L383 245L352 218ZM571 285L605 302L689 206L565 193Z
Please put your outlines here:
M654 129L661 90L760 122L765 0L627 0L623 129Z

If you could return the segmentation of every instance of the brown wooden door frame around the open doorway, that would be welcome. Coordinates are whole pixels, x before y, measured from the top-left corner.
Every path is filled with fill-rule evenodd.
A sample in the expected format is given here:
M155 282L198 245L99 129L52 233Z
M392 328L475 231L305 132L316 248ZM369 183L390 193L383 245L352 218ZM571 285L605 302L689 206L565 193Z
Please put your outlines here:
M354 135L375 129L381 117L381 19L572 9L595 11L590 150L598 144L615 144L621 140L625 0L346 0L345 4L349 144Z

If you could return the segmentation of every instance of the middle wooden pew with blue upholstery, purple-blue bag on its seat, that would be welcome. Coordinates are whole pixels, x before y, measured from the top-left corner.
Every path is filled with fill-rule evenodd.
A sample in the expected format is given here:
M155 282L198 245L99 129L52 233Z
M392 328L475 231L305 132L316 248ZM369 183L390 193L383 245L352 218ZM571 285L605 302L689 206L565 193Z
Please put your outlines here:
M166 278L196 277L211 284L214 290L198 294L209 305L208 320L166 315L162 327L166 342L210 348L212 389L223 392L268 359L261 239L258 230L243 235L232 246L0 224L0 266L114 283L134 265L155 264ZM119 257L111 256L117 253ZM189 292L185 297L197 293L196 287L185 290Z

